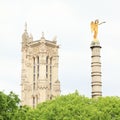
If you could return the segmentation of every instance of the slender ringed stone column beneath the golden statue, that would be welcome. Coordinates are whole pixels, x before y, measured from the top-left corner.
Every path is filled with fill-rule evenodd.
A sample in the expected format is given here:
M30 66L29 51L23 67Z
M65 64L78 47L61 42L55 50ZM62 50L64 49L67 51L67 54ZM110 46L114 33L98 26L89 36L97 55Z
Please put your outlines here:
M101 82L101 61L100 61L100 43L99 41L92 41L91 43L91 87L92 87L92 98L97 98L102 96L102 82Z

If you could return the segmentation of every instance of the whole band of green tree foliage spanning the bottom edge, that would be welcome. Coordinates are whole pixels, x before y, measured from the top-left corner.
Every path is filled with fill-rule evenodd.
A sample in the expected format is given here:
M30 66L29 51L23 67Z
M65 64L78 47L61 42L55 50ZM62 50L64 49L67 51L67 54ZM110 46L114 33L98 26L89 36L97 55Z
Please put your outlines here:
M0 92L0 120L120 120L120 97L91 99L76 91L41 103L35 109L20 107L19 102L15 94Z

